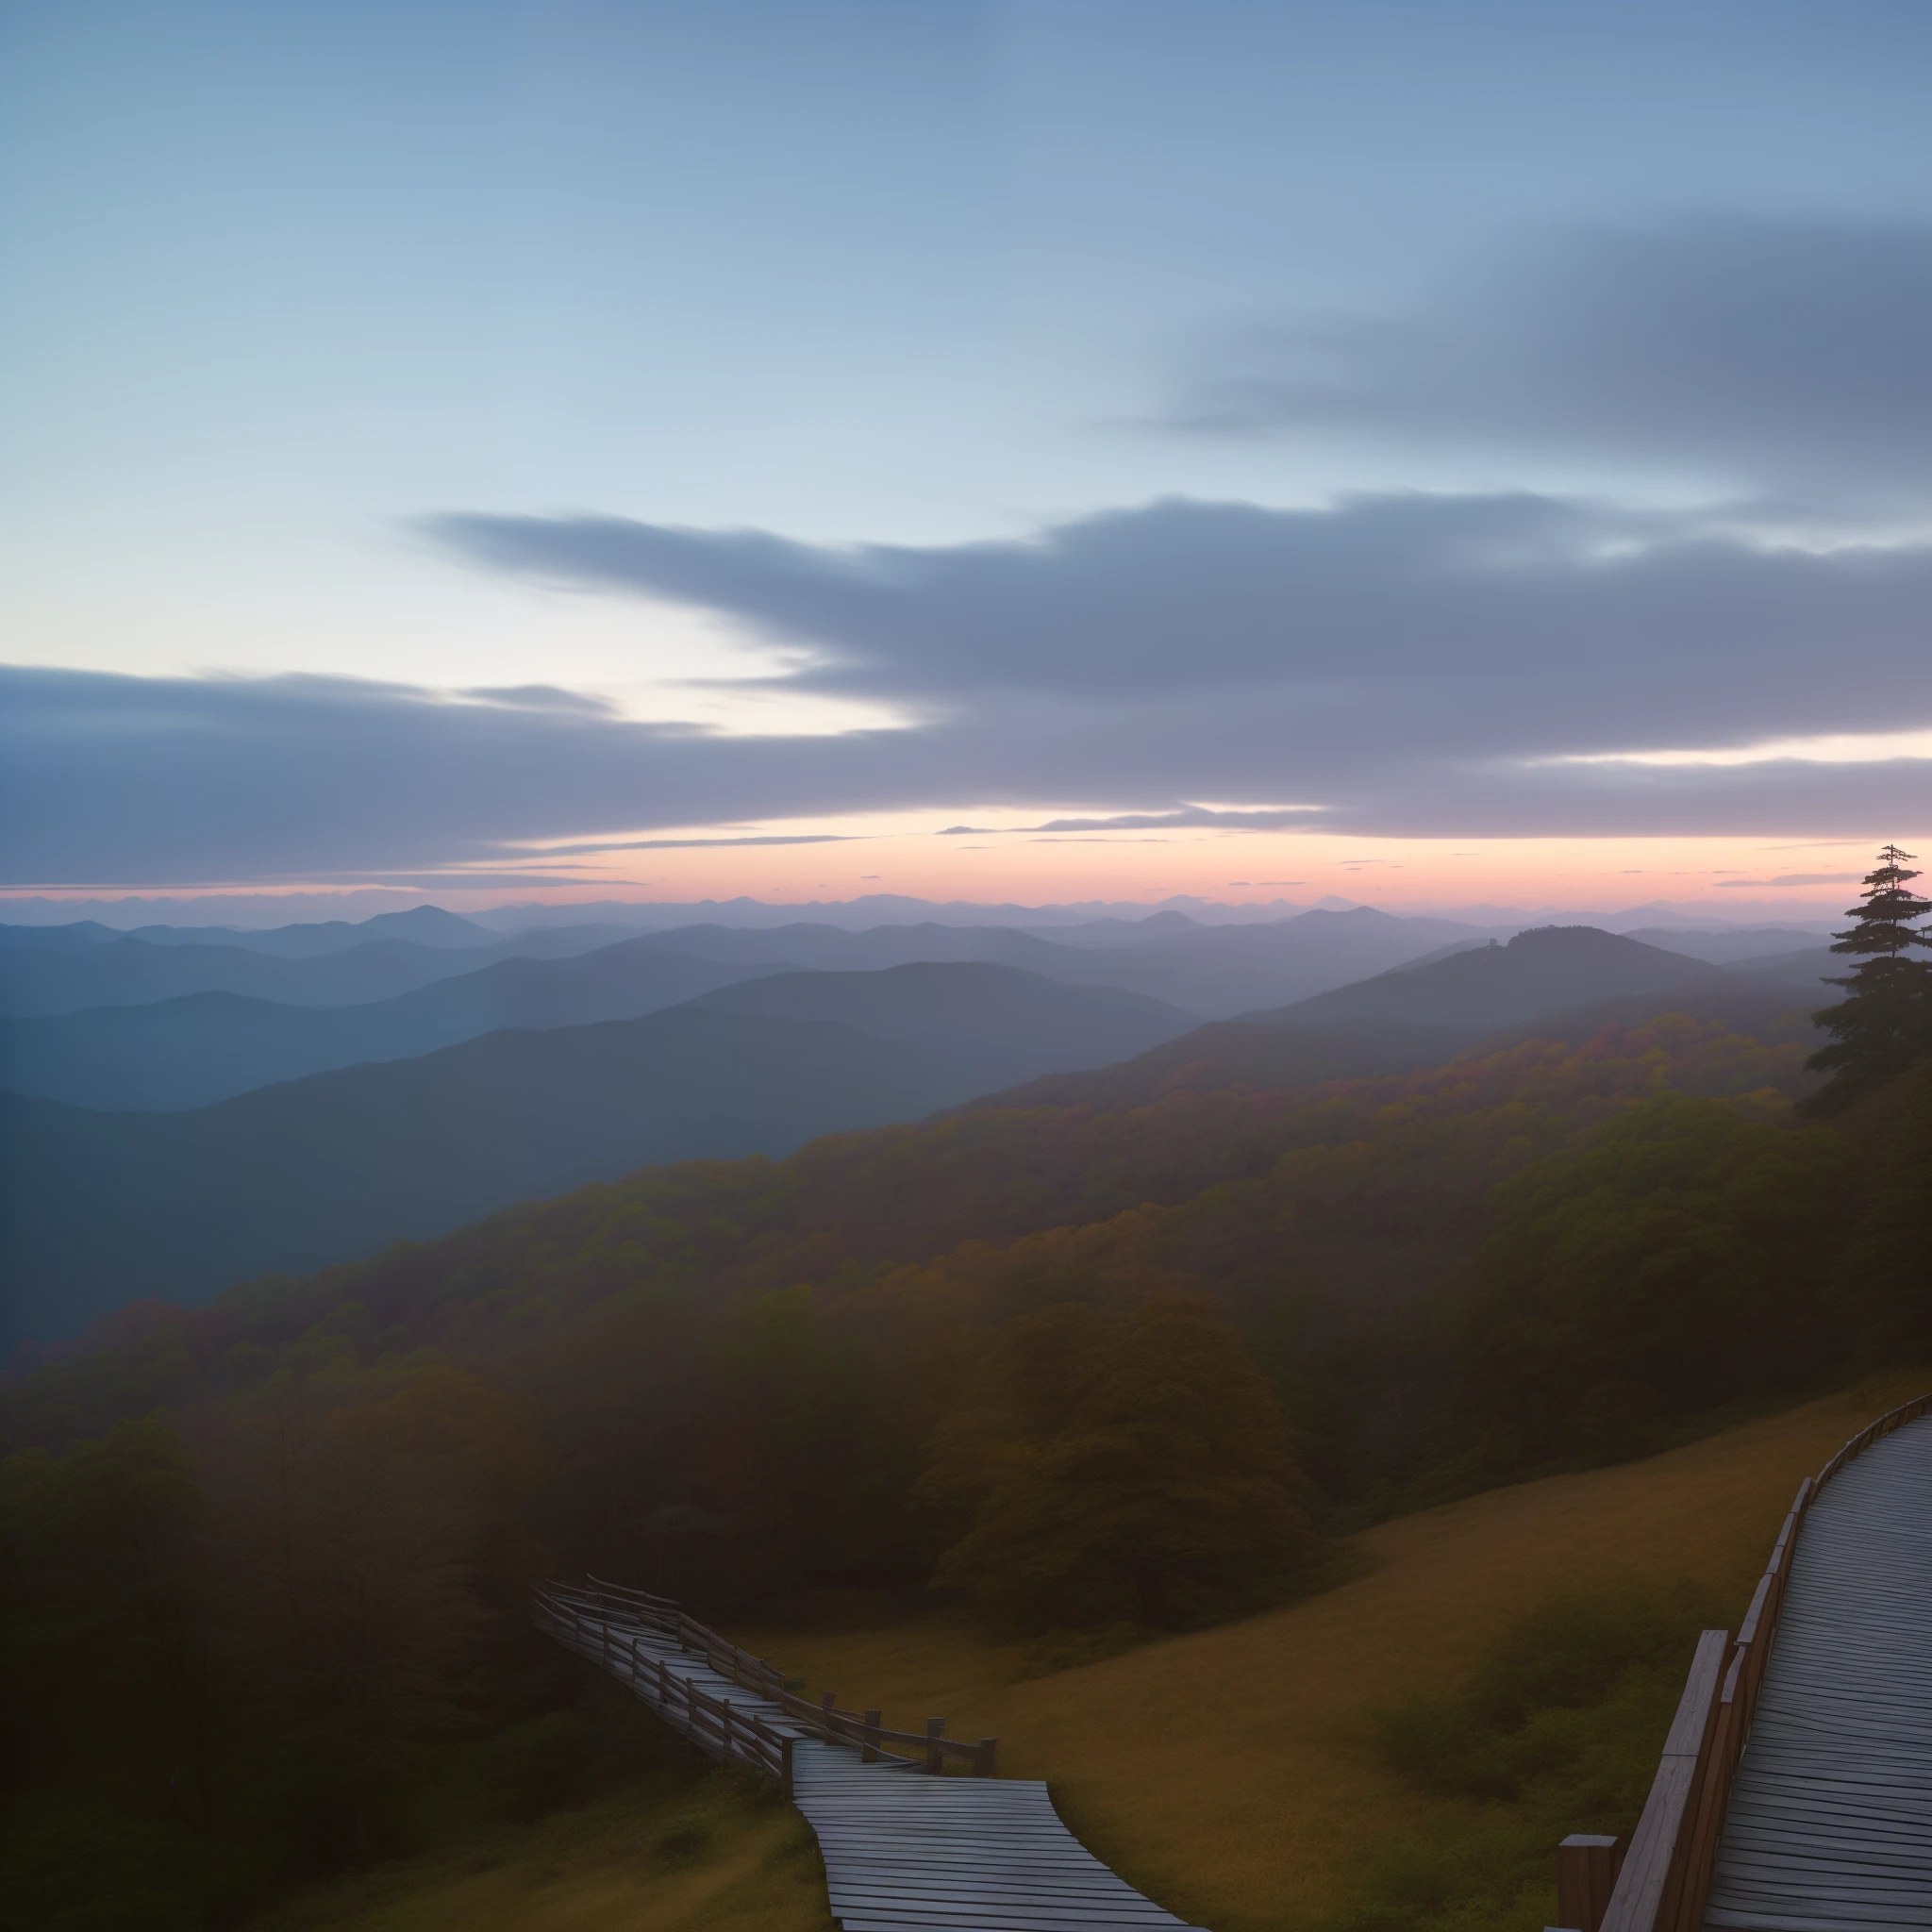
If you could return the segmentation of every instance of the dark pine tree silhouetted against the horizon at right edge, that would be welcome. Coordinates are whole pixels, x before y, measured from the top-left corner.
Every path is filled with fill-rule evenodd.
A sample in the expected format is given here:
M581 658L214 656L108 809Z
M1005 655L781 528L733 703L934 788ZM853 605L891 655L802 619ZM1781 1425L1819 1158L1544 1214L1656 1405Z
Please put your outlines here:
M1932 947L1932 935L1915 925L1932 914L1932 900L1911 891L1918 877L1911 858L1889 844L1878 854L1864 875L1864 902L1849 908L1853 923L1832 947L1859 964L1830 981L1847 989L1845 999L1812 1014L1833 1036L1808 1063L1832 1074L1812 1101L1818 1113L1847 1105L1932 1053L1932 966L1911 956L1913 947Z

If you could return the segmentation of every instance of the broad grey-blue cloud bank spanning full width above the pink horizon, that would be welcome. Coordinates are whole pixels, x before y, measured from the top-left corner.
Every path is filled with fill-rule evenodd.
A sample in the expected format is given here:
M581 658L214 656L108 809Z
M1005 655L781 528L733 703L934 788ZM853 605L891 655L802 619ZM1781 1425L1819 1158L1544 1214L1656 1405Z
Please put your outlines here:
M796 665L773 682L916 723L755 738L547 694L12 668L0 879L551 866L529 848L912 810L1024 813L1034 837L1909 838L1932 817L1920 757L1561 763L1932 724L1932 547L1776 549L1532 495L1155 502L923 549L440 527L493 568L755 624Z

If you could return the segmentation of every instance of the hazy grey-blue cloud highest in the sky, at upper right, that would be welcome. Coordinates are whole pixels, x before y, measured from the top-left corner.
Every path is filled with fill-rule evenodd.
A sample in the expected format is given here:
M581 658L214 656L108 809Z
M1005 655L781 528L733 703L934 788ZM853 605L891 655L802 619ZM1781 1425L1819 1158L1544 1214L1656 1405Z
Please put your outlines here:
M1196 354L1163 427L1922 500L1928 340L1932 226L1710 214L1551 236L1405 313L1225 338Z

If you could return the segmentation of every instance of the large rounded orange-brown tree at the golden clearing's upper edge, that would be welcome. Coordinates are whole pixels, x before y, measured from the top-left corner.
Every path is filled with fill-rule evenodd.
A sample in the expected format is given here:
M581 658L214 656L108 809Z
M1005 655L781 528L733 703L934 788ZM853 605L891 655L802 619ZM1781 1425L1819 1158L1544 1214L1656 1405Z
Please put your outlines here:
M1213 1302L1012 1323L935 1432L923 1493L968 1505L935 1582L1020 1631L1188 1629L1308 1555L1287 1422Z

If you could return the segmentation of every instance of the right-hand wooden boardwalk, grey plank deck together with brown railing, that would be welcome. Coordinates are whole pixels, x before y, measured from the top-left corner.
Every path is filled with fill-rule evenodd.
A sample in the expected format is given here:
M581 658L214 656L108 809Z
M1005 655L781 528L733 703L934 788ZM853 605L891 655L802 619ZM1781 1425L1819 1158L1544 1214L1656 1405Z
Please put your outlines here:
M1932 1393L1799 1484L1706 1631L1629 1843L1557 1847L1577 1932L1932 1932Z

